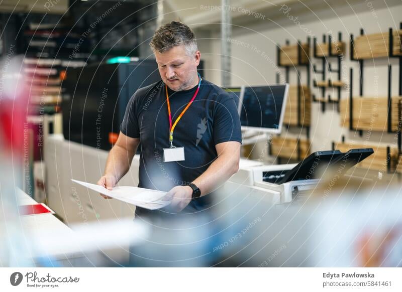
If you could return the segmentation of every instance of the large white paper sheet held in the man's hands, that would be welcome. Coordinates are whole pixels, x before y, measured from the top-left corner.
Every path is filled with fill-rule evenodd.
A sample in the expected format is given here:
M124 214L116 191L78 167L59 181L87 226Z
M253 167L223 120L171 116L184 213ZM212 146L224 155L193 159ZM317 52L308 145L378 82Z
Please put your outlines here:
M170 204L170 201L162 201L165 192L154 191L137 187L114 187L112 191L90 183L72 180L74 183L80 184L88 189L96 191L100 194L107 195L114 199L136 205L141 208L156 210Z

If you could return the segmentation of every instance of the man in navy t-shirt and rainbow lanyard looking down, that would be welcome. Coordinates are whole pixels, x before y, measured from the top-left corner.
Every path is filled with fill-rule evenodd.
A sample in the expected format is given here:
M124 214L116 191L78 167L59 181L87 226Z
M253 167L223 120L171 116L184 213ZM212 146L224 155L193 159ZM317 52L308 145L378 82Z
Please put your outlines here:
M208 194L239 168L236 105L197 73L200 52L188 26L176 21L161 26L150 46L162 80L130 99L98 185L111 190L128 172L140 145L138 187L166 191L169 212L204 210L211 205L213 195ZM137 216L144 212L136 209Z

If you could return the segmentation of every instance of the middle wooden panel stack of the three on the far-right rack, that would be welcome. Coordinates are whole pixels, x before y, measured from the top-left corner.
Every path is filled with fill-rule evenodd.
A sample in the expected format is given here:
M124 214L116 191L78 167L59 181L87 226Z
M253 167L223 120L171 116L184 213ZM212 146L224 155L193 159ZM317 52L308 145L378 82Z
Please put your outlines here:
M398 103L401 97L391 97L391 129L398 127ZM341 126L349 127L349 99L340 103ZM354 97L353 98L353 128L370 131L386 131L388 113L387 97Z

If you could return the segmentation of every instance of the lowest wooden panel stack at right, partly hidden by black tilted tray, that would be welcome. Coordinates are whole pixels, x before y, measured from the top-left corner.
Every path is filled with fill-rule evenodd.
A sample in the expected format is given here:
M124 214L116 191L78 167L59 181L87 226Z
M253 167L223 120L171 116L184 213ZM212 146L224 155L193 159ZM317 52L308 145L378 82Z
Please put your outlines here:
M370 145L356 142L348 142L348 143L338 143L335 145L336 150L340 150L342 152L346 152L349 149L355 148L372 148L374 153L367 157L365 160L361 161L356 167L379 171L385 173L387 171L387 147L380 145ZM398 149L390 148L389 149L389 163L390 170L394 171L396 167L396 163L398 160Z

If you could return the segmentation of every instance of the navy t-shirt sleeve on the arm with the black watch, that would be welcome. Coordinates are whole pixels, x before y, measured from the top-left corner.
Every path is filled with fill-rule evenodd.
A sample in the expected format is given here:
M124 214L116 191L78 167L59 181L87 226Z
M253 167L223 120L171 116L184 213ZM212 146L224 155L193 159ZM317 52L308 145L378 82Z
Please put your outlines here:
M228 142L242 142L242 132L239 113L235 100L231 96L224 95L222 102L216 104L214 114L214 141L215 145Z

